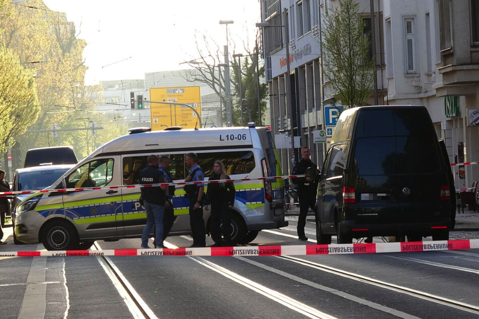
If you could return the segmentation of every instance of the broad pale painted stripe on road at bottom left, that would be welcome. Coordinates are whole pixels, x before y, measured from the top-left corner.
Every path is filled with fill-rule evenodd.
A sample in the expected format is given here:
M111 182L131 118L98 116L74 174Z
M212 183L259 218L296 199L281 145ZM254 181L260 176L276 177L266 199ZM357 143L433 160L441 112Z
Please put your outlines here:
M37 245L37 250L41 248ZM43 247L43 246L42 246ZM46 257L33 257L27 277L27 287L18 313L19 319L35 319L45 316L46 309Z

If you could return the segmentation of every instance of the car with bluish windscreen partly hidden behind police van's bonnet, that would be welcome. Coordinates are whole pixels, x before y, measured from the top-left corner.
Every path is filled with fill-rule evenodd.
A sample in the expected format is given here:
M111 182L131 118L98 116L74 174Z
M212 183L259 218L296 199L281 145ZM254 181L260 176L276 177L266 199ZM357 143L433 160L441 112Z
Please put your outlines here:
M53 184L66 171L74 167L73 164L68 165L48 165L35 166L23 169L17 169L13 175L12 191L34 191L44 189ZM12 216L12 224L15 229L15 207L30 194L19 194L13 197L11 201L10 212ZM14 232L14 242L19 244Z

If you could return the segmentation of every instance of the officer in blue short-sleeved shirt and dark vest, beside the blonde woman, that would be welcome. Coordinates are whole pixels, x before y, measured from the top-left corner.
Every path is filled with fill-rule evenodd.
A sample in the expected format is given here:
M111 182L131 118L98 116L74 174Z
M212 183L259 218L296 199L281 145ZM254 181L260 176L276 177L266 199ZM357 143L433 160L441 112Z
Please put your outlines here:
M185 156L185 164L189 168L185 182L202 182L204 174L196 164L198 157L190 152ZM185 196L189 200L189 224L193 236L193 245L190 247L206 247L206 230L203 219L203 192L204 184L193 184L184 186Z

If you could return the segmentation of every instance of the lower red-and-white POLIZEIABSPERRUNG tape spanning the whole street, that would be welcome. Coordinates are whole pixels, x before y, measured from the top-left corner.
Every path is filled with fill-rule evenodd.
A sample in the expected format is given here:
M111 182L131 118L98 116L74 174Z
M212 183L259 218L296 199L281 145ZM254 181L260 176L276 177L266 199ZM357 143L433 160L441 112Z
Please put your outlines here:
M383 254L428 251L479 249L479 239L434 242L295 245L250 247L205 247L177 249L110 249L0 252L0 257L64 257L64 256L303 256Z

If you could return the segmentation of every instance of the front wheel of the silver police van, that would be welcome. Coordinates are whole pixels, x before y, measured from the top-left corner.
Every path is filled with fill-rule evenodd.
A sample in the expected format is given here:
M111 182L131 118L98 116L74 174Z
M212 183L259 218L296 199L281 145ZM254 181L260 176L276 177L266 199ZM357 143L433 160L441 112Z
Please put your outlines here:
M77 247L77 230L65 220L53 220L42 231L42 244L49 251L72 250Z

